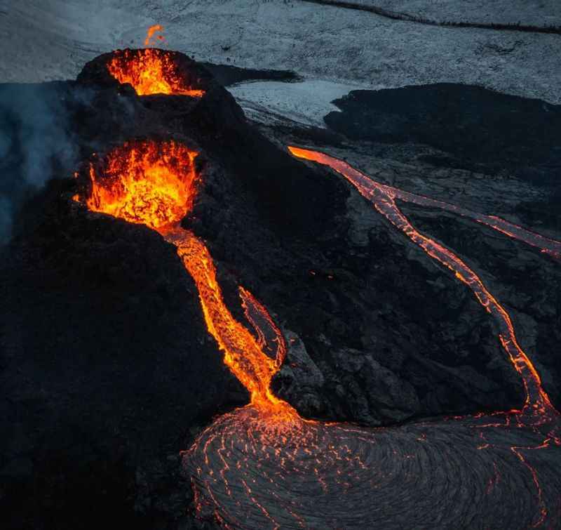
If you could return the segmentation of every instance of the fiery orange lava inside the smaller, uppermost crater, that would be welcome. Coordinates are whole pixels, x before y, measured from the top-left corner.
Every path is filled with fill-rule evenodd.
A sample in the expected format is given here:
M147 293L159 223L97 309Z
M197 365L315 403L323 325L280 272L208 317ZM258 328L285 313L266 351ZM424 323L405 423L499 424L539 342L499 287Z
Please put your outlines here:
M205 91L189 86L168 51L154 48L116 51L107 64L119 83L130 83L138 95L178 94L201 98Z

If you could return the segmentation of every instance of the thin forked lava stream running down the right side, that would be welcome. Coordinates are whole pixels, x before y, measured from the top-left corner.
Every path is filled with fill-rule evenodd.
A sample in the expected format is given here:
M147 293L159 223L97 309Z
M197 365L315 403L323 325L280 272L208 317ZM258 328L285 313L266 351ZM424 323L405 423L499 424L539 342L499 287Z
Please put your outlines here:
M436 241L433 241L433 239L417 232L407 217L403 215L396 205L396 199L414 202L416 204L423 204L425 206L435 206L448 211L460 213L464 216L473 217L471 212L451 204L433 201L432 199L428 199L426 197L419 197L407 192L401 192L391 186L379 184L375 180L367 177L364 173L360 173L360 171L357 171L346 162L330 157L325 153L292 146L288 147L288 149L295 157L330 166L330 168L334 169L334 171L343 175L392 225L397 227L411 241L420 246L421 249L428 254L428 256L438 260L439 263L452 270L457 279L462 281L473 291L480 304L494 317L495 322L499 327L499 339L501 340L501 344L508 354L508 357L511 359L516 371L518 371L520 376L522 376L522 381L524 383L526 399L522 412L525 413L525 415L533 416L539 422L545 422L550 416L557 414L557 411L555 411L553 405L550 403L548 395L541 387L541 380L539 374L534 368L534 365L520 345L518 345L511 317L508 315L504 307L499 304L491 293L489 293L478 275L475 274L475 272L473 272L473 270L471 270L464 261L458 258L445 246L442 246ZM495 220L496 225L490 225L487 223L487 219ZM494 228L504 228L504 225L499 223L499 221L502 221L499 220L499 218L478 216L476 220L479 220L480 223L489 224L489 226ZM511 227L515 226L511 225L511 223L507 224ZM538 238L541 238L541 236L538 236L538 234L534 234L533 232L528 232L521 227L517 227L517 229L518 230L513 237L518 237L518 239L527 241L529 244L539 246L539 242L541 240ZM508 233L506 228L501 231ZM532 239L525 238L525 234L532 234ZM550 246L560 245L557 241L550 239L547 239L547 241ZM553 251L554 249L550 249L548 247L548 250ZM555 247L555 251L556 250L557 247Z

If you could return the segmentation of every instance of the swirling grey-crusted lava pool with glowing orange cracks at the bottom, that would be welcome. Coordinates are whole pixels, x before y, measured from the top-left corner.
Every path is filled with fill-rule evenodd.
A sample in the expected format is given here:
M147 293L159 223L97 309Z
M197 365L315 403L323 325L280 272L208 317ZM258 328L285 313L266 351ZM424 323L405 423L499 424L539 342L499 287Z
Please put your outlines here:
M205 430L184 465L199 517L227 528L557 527L553 441L549 451L519 449L521 440L542 446L543 437L500 424L483 428L483 420L271 427L246 407Z

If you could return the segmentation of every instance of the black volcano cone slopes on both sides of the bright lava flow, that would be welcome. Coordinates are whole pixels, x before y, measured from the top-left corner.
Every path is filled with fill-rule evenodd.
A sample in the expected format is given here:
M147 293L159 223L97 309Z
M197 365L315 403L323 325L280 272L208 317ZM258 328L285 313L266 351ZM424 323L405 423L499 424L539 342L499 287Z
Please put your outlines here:
M291 330L273 390L304 416L365 425L520 406L520 380L473 295L175 57L202 98L141 98L107 75L108 56L35 96L62 102L82 162L131 138L201 153L183 225L208 244L239 319L241 284ZM57 179L22 201L2 249L1 502L14 528L99 526L109 512L140 528L187 525L177 453L248 396L173 246L72 201L86 170L53 163ZM6 178L21 171L17 157L3 166Z

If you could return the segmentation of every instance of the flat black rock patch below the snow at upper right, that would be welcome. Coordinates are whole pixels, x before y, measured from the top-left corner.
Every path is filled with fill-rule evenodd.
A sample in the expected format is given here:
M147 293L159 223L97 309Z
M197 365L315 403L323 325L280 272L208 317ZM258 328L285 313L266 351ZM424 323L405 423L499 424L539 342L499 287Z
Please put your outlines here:
M526 223L560 230L560 105L450 83L351 91L334 104L342 112L330 112L325 123L348 138L408 145L408 160L507 172L541 187L543 199L528 199L519 213ZM436 152L423 154L424 145Z

